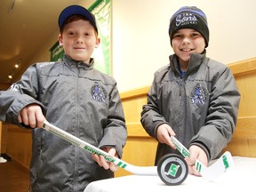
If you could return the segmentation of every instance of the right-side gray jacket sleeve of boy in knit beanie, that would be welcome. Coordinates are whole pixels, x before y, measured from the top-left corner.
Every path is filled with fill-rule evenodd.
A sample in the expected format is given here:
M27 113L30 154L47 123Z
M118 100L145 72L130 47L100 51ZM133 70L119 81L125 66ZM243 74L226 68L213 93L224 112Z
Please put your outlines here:
M209 95L210 105L206 122L189 146L204 146L208 150L209 159L212 160L227 146L236 129L240 93L229 68L225 68L219 76L213 78L212 92Z

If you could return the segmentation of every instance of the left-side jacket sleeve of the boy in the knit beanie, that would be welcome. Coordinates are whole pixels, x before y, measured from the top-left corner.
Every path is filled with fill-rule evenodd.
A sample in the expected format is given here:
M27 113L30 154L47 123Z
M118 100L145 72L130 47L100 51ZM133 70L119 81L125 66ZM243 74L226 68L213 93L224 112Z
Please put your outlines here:
M156 90L156 74L148 92L148 101L146 105L143 105L142 112L140 114L140 123L148 135L156 138L157 127L161 124L169 124L165 121L164 116L160 114L158 107L157 99L157 90ZM157 138L156 138L157 140Z

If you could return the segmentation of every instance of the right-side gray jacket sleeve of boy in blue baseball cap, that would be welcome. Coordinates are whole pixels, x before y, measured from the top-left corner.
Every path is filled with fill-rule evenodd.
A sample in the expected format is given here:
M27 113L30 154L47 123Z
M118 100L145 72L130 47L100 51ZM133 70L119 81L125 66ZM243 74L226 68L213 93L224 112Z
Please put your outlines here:
M116 88L116 84L109 93L108 123L104 128L104 135L100 141L99 148L116 148L120 158L123 155L123 148L127 139L127 131L124 120L124 109Z

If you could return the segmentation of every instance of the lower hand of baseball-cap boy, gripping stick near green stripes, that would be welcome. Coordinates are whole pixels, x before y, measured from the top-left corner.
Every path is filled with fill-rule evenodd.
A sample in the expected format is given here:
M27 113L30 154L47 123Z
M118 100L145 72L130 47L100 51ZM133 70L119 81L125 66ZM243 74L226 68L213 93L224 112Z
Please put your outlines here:
M109 156L116 156L118 157L116 153L115 148L101 148L102 150L106 151ZM103 167L105 170L110 169L112 172L117 171L117 166L113 162L108 162L104 158L104 156L98 156L96 154L92 154L92 159L97 162L101 167Z

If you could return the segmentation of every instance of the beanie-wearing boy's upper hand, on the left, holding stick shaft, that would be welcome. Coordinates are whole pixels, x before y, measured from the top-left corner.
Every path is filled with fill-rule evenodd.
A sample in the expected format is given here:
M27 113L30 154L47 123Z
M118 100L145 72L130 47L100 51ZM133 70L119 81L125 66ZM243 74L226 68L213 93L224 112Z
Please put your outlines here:
M165 143L169 145L171 148L175 149L175 146L172 143L171 136L175 136L175 132L173 132L172 127L169 124L161 124L157 127L156 137L160 143Z

